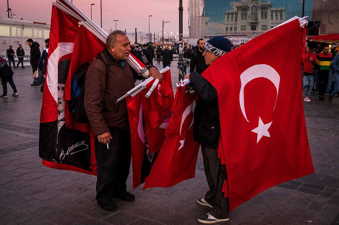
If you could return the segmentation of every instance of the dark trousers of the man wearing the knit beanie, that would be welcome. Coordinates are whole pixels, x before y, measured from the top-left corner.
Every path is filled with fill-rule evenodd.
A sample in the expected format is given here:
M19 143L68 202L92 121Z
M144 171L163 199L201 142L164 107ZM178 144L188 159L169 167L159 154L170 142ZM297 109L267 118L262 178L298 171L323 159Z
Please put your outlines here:
M220 158L218 158L217 149L209 148L201 145L201 152L204 163L204 170L207 179L207 184L210 190L206 192L204 197L213 208L210 214L217 219L226 219L230 214L230 204L228 197L224 197L222 186L224 179L220 176ZM227 182L227 181L225 181Z

